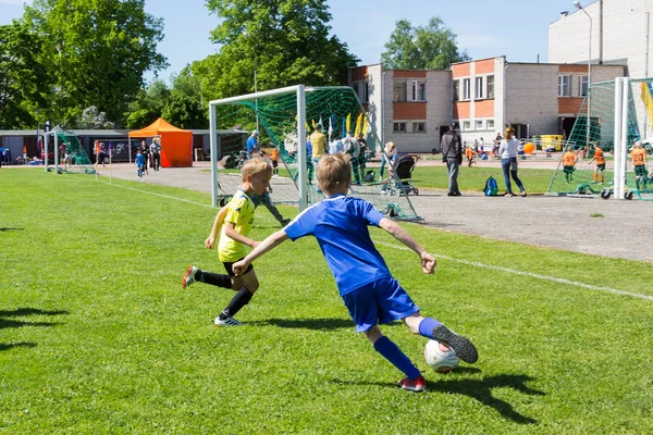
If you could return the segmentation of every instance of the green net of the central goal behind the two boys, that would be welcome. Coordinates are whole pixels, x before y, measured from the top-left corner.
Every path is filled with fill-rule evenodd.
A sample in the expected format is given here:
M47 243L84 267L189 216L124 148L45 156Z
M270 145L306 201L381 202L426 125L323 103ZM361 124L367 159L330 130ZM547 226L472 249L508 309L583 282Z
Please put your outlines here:
M349 87L306 88L305 95L307 139L320 126L328 138L329 152L345 151L353 141L358 144L350 147L350 195L370 201L378 210L394 219L418 220L408 198L408 195L419 192L410 179L411 167L407 173L404 172L407 176L395 173L392 178L387 175L385 179L380 177L377 164L380 156L374 156L380 140L370 122L370 116L377 114L367 113ZM278 167L271 182L273 200L299 203L296 91L291 89L273 96L252 97L229 103L217 101L212 104L215 107L214 134L218 158L221 161L219 196L226 199L237 189L241 182L238 169L246 159L246 140L249 133L257 129L262 157L274 164L272 153L274 150L279 153ZM309 147L308 144L304 146ZM317 187L316 167L310 152L307 160L308 203L316 203L323 195Z

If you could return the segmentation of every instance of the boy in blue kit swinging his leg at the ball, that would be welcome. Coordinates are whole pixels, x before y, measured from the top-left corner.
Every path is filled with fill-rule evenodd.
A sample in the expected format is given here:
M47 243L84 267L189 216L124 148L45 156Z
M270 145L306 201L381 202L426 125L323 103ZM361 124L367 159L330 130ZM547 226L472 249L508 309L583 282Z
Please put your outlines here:
M312 235L318 240L356 332L362 332L374 350L393 363L406 377L398 386L423 391L427 382L412 361L386 336L378 324L403 320L408 328L452 348L458 358L476 362L478 353L469 339L459 336L432 318L423 318L406 290L391 275L381 253L370 238L368 226L379 226L414 250L422 272L435 270L435 258L428 253L396 222L384 217L374 207L359 198L347 197L352 183L349 158L343 153L324 156L318 164L318 185L326 198L306 209L285 228L261 241L245 259L234 263L236 275L250 263L286 239Z

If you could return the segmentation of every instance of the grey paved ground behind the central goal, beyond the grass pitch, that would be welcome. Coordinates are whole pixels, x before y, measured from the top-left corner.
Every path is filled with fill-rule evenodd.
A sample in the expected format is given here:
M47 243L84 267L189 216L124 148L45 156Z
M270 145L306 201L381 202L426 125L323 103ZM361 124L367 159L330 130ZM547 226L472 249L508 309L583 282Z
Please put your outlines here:
M527 166L521 162L520 164L522 167ZM547 167L551 163L531 164ZM108 167L100 169L99 173L110 175ZM111 174L116 178L138 179L134 165L113 165ZM237 183L237 177L233 178ZM162 169L156 173L150 171L145 179L146 183L211 191L209 162L196 162L194 167ZM447 197L435 189L420 189L420 195L411 196L410 199L417 213L424 219L423 224L428 226L590 254L653 262L653 202L545 196L504 198L484 197L481 194ZM600 216L592 217L593 214Z

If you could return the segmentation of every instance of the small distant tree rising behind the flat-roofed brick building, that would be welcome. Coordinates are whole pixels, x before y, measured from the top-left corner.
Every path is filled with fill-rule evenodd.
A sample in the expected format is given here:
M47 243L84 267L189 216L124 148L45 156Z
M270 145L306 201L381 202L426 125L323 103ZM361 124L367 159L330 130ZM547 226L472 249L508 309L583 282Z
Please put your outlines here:
M456 35L439 16L418 27L408 20L397 21L385 49L381 62L390 70L444 70L471 60L467 51L458 51Z

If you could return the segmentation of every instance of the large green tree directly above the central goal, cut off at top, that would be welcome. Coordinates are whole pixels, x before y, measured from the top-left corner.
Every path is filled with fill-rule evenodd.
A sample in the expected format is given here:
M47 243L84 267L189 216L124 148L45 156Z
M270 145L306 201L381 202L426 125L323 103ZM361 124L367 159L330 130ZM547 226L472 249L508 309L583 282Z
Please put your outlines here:
M195 75L208 78L205 95L223 98L306 84L337 85L358 59L337 37L329 36L326 0L207 0L222 21L211 34L218 53L195 62Z

